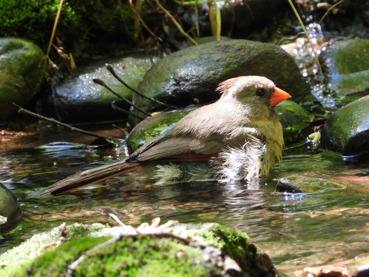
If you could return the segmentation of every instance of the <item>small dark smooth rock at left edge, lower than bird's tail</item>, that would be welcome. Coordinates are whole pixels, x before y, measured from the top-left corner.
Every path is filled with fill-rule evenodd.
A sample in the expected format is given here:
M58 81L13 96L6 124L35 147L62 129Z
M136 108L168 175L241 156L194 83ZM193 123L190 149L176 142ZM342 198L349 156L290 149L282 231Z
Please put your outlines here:
M21 208L14 194L0 183L0 233L14 228L22 218Z

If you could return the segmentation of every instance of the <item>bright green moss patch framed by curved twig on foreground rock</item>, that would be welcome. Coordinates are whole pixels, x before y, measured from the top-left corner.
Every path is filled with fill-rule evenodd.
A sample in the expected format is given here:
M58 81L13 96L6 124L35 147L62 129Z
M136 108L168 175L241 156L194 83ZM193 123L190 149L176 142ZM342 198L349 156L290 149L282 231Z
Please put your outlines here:
M197 248L168 239L126 237L89 254L75 276L210 276ZM165 260L165 261L163 261Z

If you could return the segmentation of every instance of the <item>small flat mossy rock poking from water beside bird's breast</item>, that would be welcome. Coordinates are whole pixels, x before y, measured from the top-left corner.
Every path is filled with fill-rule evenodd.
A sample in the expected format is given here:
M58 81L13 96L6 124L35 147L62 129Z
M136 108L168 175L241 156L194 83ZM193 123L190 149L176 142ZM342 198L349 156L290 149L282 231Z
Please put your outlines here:
M331 189L343 189L346 186L328 176L316 173L291 174L281 178L276 187L278 192L321 193Z

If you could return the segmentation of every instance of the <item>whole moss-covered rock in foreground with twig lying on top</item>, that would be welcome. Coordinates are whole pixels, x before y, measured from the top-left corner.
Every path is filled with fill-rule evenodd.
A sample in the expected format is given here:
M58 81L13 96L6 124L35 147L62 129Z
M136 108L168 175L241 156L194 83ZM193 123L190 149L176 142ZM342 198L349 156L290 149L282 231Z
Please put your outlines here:
M63 242L39 250L57 242L60 233ZM257 252L245 233L216 223L143 224L137 229L62 225L8 250L0 264L6 276L63 276L68 266L73 276L276 275L269 257Z

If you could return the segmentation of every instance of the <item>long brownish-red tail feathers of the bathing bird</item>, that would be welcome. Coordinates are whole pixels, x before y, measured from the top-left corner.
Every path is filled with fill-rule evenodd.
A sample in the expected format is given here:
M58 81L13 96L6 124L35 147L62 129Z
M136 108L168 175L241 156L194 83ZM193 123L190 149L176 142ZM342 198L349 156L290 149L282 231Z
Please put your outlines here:
M142 163L126 161L118 161L116 163L103 165L101 167L92 168L90 170L70 175L47 188L34 192L32 196L39 197L48 193L59 195L66 192L77 191L79 188L134 171L142 166Z

